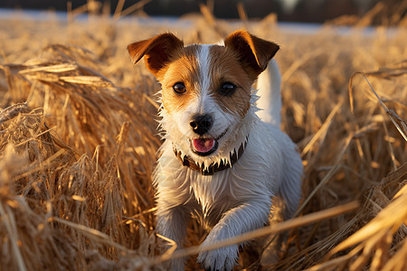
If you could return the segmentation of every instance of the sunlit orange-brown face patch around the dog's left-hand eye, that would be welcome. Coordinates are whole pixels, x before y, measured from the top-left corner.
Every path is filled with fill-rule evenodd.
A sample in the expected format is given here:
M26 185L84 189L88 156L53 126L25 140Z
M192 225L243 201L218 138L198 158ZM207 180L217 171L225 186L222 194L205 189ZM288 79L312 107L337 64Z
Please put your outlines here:
M199 66L196 60L198 45L185 47L177 51L168 65L158 72L157 79L162 87L162 101L166 111L183 110L192 99L199 95ZM184 83L185 92L176 93L175 83Z

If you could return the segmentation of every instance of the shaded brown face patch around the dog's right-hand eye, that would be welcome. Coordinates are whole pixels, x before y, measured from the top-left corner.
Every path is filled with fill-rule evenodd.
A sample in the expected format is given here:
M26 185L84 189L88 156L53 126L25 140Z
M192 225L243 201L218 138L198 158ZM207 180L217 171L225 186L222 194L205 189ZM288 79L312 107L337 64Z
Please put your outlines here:
M211 62L210 92L222 111L237 114L241 118L246 116L251 107L251 85L253 80L241 66L236 53L223 46L214 45L210 48ZM222 84L232 83L237 88L232 95L223 95L220 91Z

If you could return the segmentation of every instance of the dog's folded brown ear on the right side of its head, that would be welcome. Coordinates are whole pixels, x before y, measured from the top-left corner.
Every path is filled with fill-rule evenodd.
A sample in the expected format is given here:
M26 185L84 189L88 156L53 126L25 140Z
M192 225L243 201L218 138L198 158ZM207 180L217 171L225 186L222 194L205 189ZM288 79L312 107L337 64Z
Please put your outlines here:
M224 46L236 51L240 61L251 68L257 77L279 51L279 45L262 40L246 31L235 31L226 37Z

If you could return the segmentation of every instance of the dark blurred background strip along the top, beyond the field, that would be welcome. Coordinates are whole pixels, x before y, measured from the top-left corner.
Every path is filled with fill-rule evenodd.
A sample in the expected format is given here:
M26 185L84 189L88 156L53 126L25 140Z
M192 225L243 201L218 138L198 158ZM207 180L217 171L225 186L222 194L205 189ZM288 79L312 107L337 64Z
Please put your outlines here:
M366 14L371 17L371 25L400 25L407 10L405 0L2 0L0 8L70 12L87 5L94 13L104 10L114 14L119 6L125 10L137 3L143 5L142 10L137 9L138 15L182 16L199 13L200 5L204 4L215 17L223 19L237 19L242 15L261 19L277 14L280 22L324 23L340 17L334 23L349 25ZM403 24L407 24L405 20Z

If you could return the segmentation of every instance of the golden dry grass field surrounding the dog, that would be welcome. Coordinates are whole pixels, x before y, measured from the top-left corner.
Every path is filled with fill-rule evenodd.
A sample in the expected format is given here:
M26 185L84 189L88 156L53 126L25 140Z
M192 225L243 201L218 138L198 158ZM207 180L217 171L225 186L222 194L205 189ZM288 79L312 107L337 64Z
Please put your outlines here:
M196 223L186 250L157 252L169 241L154 232L159 86L142 64L131 66L125 49L163 31L185 42L217 42L242 27L209 19L211 27L198 16L185 28L0 22L7 25L0 30L3 268L164 269L166 258L196 253L205 234ZM244 25L281 45L282 128L298 143L305 177L295 220L239 238L289 231L279 261L266 269L403 270L406 30L341 36L327 25L294 34L272 16ZM349 211L350 201L359 207ZM245 248L236 269L259 258ZM194 257L187 268L199 268Z

